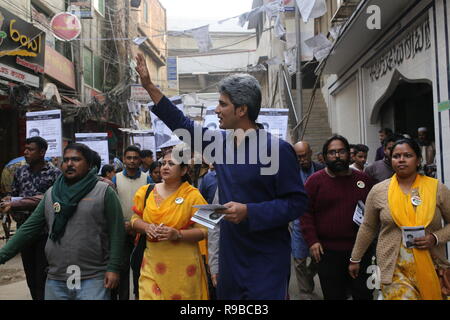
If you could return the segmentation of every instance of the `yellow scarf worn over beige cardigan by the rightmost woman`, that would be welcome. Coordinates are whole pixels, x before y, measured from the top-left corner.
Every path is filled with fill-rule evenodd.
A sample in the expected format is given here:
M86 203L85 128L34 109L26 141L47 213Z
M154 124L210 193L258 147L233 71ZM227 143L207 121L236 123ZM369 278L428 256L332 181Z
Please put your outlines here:
M422 203L414 210L411 195L403 193L395 174L389 185L388 202L392 218L397 226L427 227L433 220L436 211L437 186L438 181L436 179L417 175L412 189L419 191ZM417 282L422 298L424 300L442 300L441 287L430 251L413 249L413 254Z

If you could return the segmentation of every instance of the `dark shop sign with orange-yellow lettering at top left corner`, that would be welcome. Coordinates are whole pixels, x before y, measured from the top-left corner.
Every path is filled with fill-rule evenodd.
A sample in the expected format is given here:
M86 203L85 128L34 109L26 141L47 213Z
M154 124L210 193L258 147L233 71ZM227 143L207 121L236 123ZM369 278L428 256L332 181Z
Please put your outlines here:
M45 32L0 7L0 59L3 65L43 73Z

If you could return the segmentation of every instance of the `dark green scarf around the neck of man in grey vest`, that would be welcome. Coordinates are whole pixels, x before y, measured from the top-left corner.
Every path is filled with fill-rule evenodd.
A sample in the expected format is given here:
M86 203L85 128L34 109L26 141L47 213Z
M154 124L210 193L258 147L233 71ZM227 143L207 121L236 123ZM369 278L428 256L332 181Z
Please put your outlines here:
M78 203L94 189L98 182L96 173L97 169L93 168L83 179L72 185L67 184L64 175L60 175L56 180L52 189L55 219L53 220L50 239L53 241L59 242L66 231L67 222L77 209Z

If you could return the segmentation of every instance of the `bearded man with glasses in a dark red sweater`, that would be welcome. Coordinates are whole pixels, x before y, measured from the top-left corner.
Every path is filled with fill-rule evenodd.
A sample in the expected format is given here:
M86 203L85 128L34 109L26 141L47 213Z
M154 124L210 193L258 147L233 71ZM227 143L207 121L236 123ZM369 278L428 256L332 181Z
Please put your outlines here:
M365 202L373 183L365 173L349 168L350 146L344 137L329 138L322 153L327 167L313 174L305 184L309 207L300 218L303 237L318 263L325 300L344 300L348 292L354 300L369 300L372 299L366 285L369 275L361 272L352 279L347 269L358 232L353 214L358 201ZM370 264L369 251L361 261L363 270Z

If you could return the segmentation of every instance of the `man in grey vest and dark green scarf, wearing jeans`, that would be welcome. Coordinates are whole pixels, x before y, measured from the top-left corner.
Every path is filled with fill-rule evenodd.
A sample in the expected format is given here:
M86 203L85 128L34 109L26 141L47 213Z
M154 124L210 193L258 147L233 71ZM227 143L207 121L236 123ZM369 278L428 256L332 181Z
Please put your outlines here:
M13 258L47 228L46 300L108 300L119 282L124 242L116 193L97 179L92 150L74 143L64 150L62 171L44 199L0 250Z

